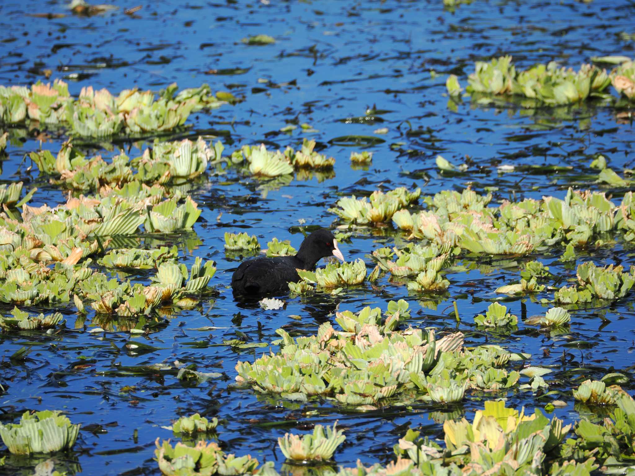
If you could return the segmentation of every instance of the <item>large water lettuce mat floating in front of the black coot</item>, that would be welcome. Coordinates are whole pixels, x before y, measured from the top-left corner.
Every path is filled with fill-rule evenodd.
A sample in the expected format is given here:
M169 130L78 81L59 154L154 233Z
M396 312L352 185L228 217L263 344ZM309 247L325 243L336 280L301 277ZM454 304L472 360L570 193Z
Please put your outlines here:
M403 327L405 301L392 301L359 314L338 312L337 331L329 322L318 334L291 338L283 329L277 354L238 362L236 380L258 392L305 401L320 396L368 411L414 401L460 402L466 390L502 390L519 380L507 371L510 360L526 359L503 348L465 348L463 334L438 339L434 330Z

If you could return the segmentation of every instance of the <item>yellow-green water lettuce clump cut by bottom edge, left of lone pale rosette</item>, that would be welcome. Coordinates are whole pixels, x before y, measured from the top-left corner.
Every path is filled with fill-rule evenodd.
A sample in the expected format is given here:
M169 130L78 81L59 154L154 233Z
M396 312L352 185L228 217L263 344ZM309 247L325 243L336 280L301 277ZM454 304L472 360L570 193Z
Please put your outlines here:
M214 442L200 440L194 447L183 443L172 447L170 440L163 440L159 445L157 438L155 444L154 457L165 476L236 476L254 473L258 467L257 459L249 455L236 458L233 454L225 454Z

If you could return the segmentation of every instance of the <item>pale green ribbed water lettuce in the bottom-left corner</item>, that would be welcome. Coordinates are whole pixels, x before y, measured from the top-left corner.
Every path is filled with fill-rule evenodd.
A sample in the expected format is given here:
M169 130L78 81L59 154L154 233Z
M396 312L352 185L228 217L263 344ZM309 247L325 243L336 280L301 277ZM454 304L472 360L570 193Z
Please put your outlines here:
M0 437L12 454L55 453L73 447L79 426L59 411L25 411L20 423L0 423Z

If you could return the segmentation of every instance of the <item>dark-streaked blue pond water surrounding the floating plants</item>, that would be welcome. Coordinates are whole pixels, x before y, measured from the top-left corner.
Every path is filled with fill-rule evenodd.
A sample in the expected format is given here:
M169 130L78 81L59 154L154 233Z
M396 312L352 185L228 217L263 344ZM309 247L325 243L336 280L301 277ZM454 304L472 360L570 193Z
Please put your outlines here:
M575 277L575 267L558 262L562 250L513 258L463 258L460 264L471 269L446 275L450 288L440 298L408 293L383 277L337 296L285 294L279 296L286 301L283 310L262 310L232 296L229 283L240 258L225 256L224 233L246 231L257 235L262 245L273 237L289 239L298 248L302 227L341 224L328 211L340 196L400 186L421 187L423 194L433 195L467 185L479 193L494 190L492 204L542 195L563 198L570 186L611 194L610 188L596 183L598 173L589 168L592 157L605 155L614 169L635 167L632 122L618 117L619 111L605 103L525 109L513 103L476 106L467 98L449 107L445 87L448 74L456 74L465 86L474 61L492 56L512 55L523 68L551 60L577 68L591 56L635 56L635 42L620 36L620 32L635 33L632 2L475 0L451 11L440 0L157 0L142 3L131 14L125 10L134 3L116 0L112 5L117 9L81 17L70 14L62 1L0 3L0 84L45 81L46 70L51 80L67 81L72 95L88 85L117 93L133 86L158 90L173 82L180 88L208 83L212 91L230 91L243 101L197 112L187 121L190 128L170 138L220 138L229 150L258 143L299 148L303 138L313 138L316 149L335 157L336 163L333 176L296 177L277 188L263 187L255 178L232 171L210 175L192 193L203 209L192 233L140 235L136 240L141 247L177 244L188 266L194 256L201 256L214 260L218 268L212 282L217 296L193 310L164 316L168 324L156 332L131 337L117 330L124 324L115 321L106 326L94 314L84 321L70 306L62 309L67 324L59 333L0 334L4 362L20 347L31 347L26 360L3 367L1 380L8 390L0 394L0 421L15 421L26 409L60 409L74 423L81 423L76 451L67 461L71 473L159 474L152 460L154 440L172 437L161 426L195 412L222 420L219 439L230 453L276 461L278 470L284 456L276 438L317 423L331 425L337 420L346 428L347 440L335 455L338 465L354 464L358 458L364 463L389 461L392 445L408 426L443 437L434 412L471 418L488 395L469 394L462 404L451 407L420 404L368 413L328 400L290 402L236 388L236 362L253 362L268 349L239 350L223 341L270 342L278 337L279 327L293 335L314 334L319 324L332 321L335 310L357 312L366 305L385 309L387 301L403 298L410 303L413 326L459 329L469 345L483 343L486 334L474 327L472 317L497 296L498 286L518 279L523 261L537 259L555 274L565 275L565 280ZM276 43L241 42L257 34L271 35ZM298 127L281 131L290 124ZM300 124L311 127L303 129ZM38 187L31 201L36 206L63 202L64 192L48 185L48 178L39 176L28 158L23 160L40 145L57 152L65 140L62 131L42 133L17 126L7 130L10 144L0 180L21 180L27 189ZM91 155L108 157L121 147L135 157L153 139L119 140L114 149L91 140L74 144ZM353 150L373 152L371 166L351 168ZM441 174L435 165L438 154L470 167L462 174ZM499 171L498 166L505 164L516 168ZM613 200L618 202L620 195ZM340 248L349 261L364 259L369 271L375 266L369 256L373 249L406 243L404 234L390 225L352 231L350 241ZM580 256L598 265L635 263L632 246L623 241L587 249ZM136 278L145 282L147 276L140 273ZM524 321L544 314L540 298L551 296L552 291L545 291L532 298L509 298L505 304ZM458 324L453 301L462 316ZM3 305L0 311L8 313L11 308ZM630 301L571 314L570 332L563 335L551 337L519 322L518 331L493 339L531 354L532 365L554 366L552 390L561 390L559 399L568 403L556 414L568 421L579 418L573 409L572 382L599 378L612 369L630 376L635 348ZM215 328L197 330L208 326ZM108 331L90 333L95 327ZM129 341L156 350L126 350ZM194 385L173 374L141 368L175 360L222 377ZM623 387L629 390L632 384ZM545 404L530 392L513 390L496 396L506 396L518 407ZM317 413L305 416L307 410ZM29 464L25 463L25 474L30 474ZM0 473L5 470L0 467Z

